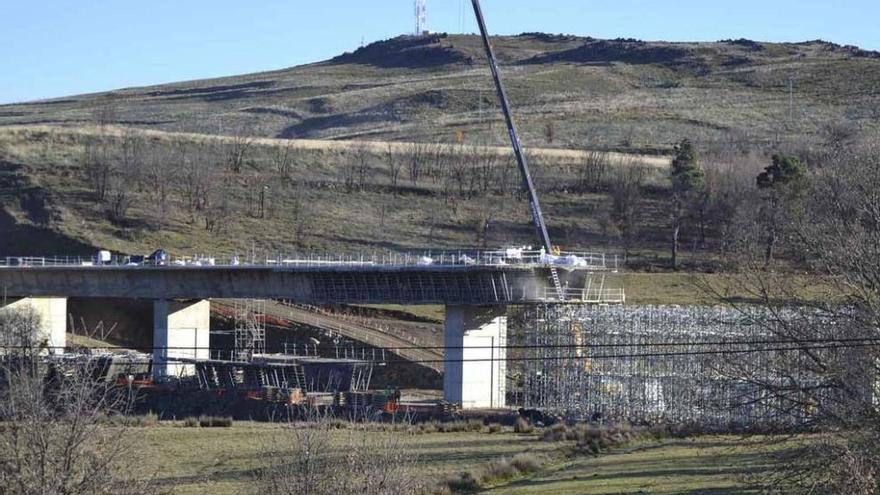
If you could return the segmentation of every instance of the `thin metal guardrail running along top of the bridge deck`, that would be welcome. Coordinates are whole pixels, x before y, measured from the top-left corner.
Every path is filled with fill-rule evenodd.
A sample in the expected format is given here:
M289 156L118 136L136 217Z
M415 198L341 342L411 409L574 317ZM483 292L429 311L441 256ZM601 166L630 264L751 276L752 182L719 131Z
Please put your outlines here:
M147 258L144 260L144 258ZM169 256L157 262L143 256L112 256L108 261L84 256L7 256L0 257L0 268L7 267L119 267L119 266L557 266L591 271L618 270L617 255L580 251L559 251L553 254L528 249L500 249L491 251L425 251L414 253L370 254L297 254L216 257L207 255Z

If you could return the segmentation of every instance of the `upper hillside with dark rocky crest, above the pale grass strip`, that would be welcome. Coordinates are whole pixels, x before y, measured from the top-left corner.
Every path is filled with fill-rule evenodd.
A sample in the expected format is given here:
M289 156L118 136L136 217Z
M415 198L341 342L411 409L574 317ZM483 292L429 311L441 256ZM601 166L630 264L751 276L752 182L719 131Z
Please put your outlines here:
M671 43L538 33L493 41L531 146L654 150L683 136L816 140L829 123L876 128L880 113L880 54L822 41ZM96 119L262 137L506 139L479 38L463 35L399 37L274 72L0 106L0 125Z

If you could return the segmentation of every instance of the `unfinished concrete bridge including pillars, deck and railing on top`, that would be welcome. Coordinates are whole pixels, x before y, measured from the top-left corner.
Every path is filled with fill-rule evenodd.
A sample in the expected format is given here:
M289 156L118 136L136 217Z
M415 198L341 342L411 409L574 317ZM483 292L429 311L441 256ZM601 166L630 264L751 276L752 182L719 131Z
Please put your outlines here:
M210 299L443 305L445 398L465 407L498 407L504 398L507 306L623 302L624 297L622 290L595 282L593 274L616 271L616 259L601 253L505 249L247 262L204 256L152 264L131 260L0 258L2 306L34 308L50 346L63 349L67 298L152 301L153 371L161 379L192 371L175 360L210 357ZM552 282L554 269L561 290Z

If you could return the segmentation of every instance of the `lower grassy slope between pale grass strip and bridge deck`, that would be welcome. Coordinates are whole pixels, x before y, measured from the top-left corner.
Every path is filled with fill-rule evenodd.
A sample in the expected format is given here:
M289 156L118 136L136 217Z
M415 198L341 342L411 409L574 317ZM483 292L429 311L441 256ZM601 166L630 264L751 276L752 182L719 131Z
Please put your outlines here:
M140 150L137 170L127 175L120 170L126 142L139 143L132 146ZM311 146L315 142L288 148L288 143L254 141L242 169L233 172L227 163L236 147L231 138L115 128L0 128L6 156L0 161L0 199L10 225L31 231L4 237L0 251L61 254L101 246L136 253L164 247L174 255L256 250L261 257L535 242L507 150L418 143ZM104 200L96 196L84 163L93 145L106 146L118 182ZM278 154L284 152L288 169L279 172ZM606 194L581 186L583 163L595 155L552 150L531 155L553 235L572 249L606 245L601 224ZM416 157L424 170L412 179L408 170ZM396 180L389 160L399 168ZM619 154L601 160L606 173L638 168L656 184L663 182L668 163ZM112 211L110 196L117 190L126 195L122 215ZM655 216L651 223L662 222L661 208L646 209ZM54 244L58 235L68 242ZM661 249L661 237L646 229L645 253Z

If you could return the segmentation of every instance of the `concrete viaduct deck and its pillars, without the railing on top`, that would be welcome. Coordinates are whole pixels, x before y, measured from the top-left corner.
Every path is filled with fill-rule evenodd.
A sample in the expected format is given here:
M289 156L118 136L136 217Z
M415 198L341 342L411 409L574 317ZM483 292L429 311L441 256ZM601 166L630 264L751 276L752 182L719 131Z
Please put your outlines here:
M544 302L549 283L540 264L0 267L3 305L33 307L54 349L69 297L152 300L157 378L181 372L174 358L210 357L211 298L444 305L444 398L463 407L504 405L506 306Z

